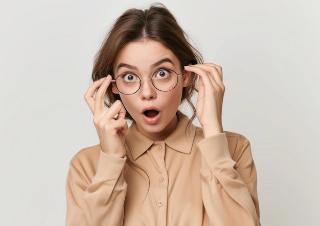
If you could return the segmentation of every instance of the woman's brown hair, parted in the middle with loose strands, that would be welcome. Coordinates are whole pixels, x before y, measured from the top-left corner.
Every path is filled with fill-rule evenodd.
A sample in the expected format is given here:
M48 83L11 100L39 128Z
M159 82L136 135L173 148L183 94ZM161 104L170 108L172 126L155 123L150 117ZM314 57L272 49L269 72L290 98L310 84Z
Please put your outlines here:
M145 39L158 41L171 49L179 59L181 69L190 63L202 63L201 54L188 42L186 37L187 35L172 13L162 4L152 5L146 10L129 9L116 20L105 37L95 57L92 79L97 81L108 74L114 78L112 68L121 49L130 42ZM197 91L197 77L197 74L193 73L189 85L182 90L181 102L186 100L193 111L190 121L196 116L191 96L194 91ZM113 93L111 89L109 86L105 94L107 107L110 107L117 99L121 100L120 95ZM132 120L128 112L126 118Z

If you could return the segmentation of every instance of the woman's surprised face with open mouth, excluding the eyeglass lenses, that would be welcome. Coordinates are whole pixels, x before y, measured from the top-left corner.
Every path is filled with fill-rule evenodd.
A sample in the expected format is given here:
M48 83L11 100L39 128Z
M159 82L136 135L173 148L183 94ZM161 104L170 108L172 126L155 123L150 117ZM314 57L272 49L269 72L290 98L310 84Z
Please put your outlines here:
M117 56L113 67L116 78L119 74L130 72L142 80L140 89L132 95L120 93L115 84L112 84L112 91L120 94L137 129L153 140L164 140L175 130L182 88L188 85L190 77L190 73L184 71L173 90L159 91L152 85L150 77L156 70L164 68L178 74L181 72L181 65L173 52L152 40L128 43Z

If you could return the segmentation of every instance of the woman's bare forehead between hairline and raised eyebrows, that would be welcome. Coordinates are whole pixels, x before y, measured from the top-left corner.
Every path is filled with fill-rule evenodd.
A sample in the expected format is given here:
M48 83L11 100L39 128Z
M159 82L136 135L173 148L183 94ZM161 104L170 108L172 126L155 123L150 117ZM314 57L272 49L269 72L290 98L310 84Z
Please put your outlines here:
M150 70L152 65L163 59L170 59L173 66L179 66L179 60L174 53L162 43L145 40L126 44L118 54L113 70L117 71L120 64L134 66L138 70ZM171 64L166 61L165 64Z

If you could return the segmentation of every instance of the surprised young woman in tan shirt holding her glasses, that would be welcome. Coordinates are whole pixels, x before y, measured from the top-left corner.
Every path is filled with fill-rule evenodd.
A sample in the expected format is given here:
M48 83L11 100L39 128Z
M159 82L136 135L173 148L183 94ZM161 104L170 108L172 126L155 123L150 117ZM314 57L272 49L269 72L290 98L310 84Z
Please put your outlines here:
M250 144L222 129L222 68L202 62L164 6L120 16L92 78L100 144L71 160L66 225L260 225Z

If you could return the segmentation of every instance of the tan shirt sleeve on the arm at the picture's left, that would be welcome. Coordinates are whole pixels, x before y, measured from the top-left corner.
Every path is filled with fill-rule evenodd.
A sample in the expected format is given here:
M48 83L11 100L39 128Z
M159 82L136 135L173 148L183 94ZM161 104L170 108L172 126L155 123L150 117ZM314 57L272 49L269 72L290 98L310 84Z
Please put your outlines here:
M125 162L126 157L113 158L102 151L97 162L79 156L70 162L66 181L67 226L123 224Z

